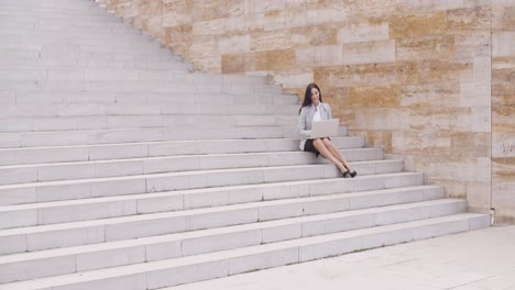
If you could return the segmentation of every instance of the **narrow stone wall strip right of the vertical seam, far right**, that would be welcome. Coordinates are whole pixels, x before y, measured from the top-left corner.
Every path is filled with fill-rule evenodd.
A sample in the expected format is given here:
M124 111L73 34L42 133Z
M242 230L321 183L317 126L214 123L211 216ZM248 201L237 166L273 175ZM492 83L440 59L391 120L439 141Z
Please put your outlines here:
M492 203L515 223L515 1L493 1L492 26Z

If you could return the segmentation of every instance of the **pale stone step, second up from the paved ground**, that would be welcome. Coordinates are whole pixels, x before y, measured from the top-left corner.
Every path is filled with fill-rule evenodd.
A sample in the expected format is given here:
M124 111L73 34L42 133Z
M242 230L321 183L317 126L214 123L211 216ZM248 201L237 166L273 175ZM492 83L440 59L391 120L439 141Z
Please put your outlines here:
M432 200L325 213L99 245L0 257L0 283L258 246L461 213L463 200ZM123 256L123 258L120 258ZM9 275L8 275L9 272Z

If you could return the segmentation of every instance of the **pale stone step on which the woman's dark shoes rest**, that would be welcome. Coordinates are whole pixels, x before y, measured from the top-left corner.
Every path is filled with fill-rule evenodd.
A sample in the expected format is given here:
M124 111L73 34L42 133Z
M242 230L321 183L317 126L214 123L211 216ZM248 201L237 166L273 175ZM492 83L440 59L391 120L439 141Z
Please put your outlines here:
M401 160L354 161L351 166L359 178L401 172L404 167ZM0 205L336 177L341 177L336 166L320 164L34 182L0 186Z

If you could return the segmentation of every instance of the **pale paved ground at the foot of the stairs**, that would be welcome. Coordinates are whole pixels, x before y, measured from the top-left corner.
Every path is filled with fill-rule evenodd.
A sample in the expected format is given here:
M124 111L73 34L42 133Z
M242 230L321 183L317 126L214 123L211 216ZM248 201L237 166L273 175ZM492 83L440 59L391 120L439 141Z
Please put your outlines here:
M495 226L173 289L515 290L515 226Z

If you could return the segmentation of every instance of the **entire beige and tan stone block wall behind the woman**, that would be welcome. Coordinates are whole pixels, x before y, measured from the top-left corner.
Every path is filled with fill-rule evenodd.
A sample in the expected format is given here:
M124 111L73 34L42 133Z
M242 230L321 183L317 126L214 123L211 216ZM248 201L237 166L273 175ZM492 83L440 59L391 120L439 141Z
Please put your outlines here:
M316 81L351 134L515 217L515 0L106 2L198 69Z

